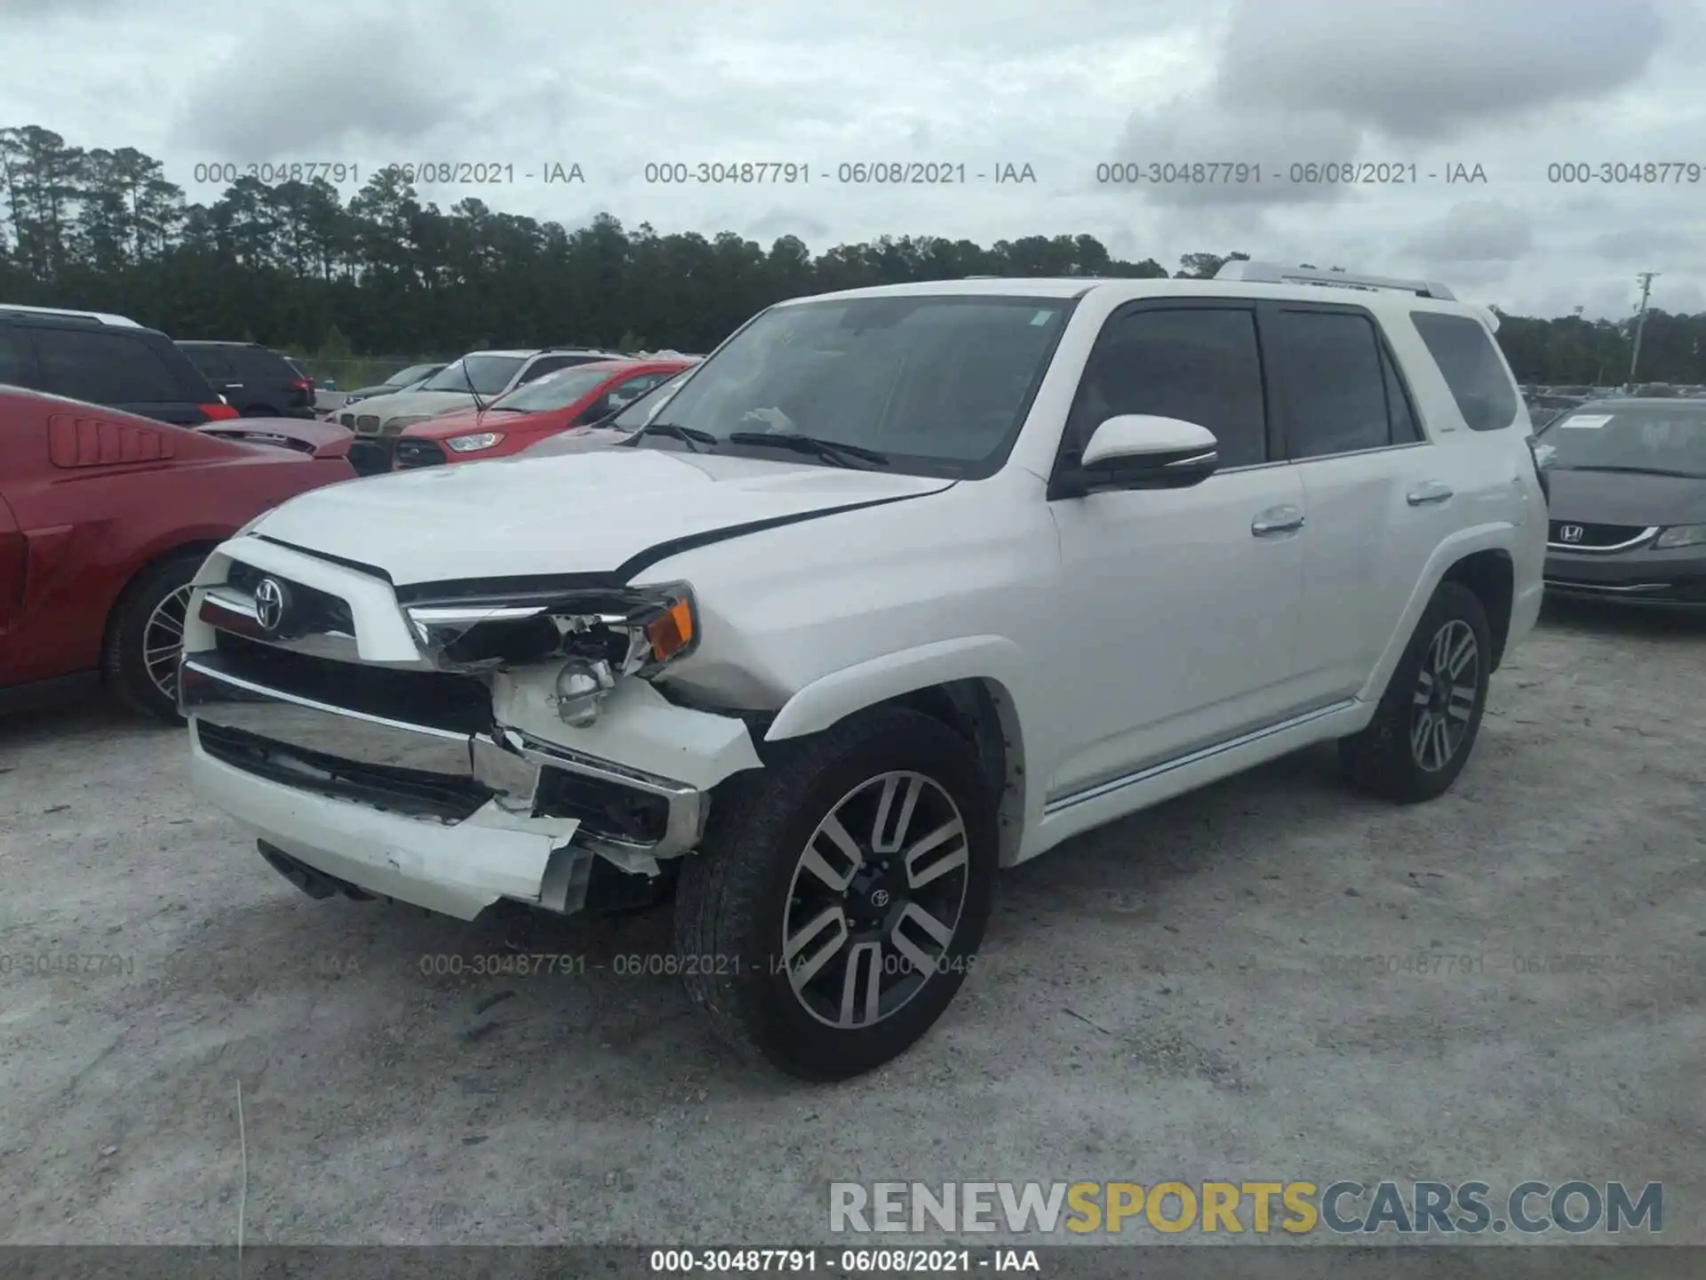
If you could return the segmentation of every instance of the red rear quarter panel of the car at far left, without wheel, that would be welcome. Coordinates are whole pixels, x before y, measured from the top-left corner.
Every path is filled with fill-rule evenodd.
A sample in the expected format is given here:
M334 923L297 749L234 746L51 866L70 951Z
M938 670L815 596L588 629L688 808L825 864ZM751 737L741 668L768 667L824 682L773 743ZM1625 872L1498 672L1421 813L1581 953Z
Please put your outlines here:
M99 442L78 454L77 440L92 437L119 442L116 454L104 457ZM177 550L210 550L268 507L353 474L343 459L0 393L0 492L27 539L0 684L96 669L113 606L138 572Z

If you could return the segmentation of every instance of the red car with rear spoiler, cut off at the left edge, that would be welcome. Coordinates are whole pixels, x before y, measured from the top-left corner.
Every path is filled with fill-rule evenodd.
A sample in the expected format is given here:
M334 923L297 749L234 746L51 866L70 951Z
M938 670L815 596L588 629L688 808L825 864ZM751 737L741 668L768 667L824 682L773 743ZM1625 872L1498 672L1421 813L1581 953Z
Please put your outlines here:
M355 480L348 452L350 432L322 422L191 430L0 386L0 710L104 678L176 720L206 553L285 498Z

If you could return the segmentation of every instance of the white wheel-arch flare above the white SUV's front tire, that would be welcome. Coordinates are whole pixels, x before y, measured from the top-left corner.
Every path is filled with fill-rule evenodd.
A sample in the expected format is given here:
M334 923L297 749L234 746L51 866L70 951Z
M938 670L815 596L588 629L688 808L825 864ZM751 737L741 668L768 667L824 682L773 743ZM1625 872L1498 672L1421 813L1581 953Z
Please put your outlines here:
M1017 698L1022 671L1018 645L1000 635L902 649L819 676L783 703L764 741L815 734L865 707L954 679L996 679Z

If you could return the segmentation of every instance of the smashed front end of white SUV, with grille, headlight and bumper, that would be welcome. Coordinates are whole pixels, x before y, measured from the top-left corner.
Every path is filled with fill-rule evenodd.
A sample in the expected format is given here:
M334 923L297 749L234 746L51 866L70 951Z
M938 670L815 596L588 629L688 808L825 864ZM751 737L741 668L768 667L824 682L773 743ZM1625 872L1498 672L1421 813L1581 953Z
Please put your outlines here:
M740 719L652 683L696 638L686 584L411 591L239 536L186 621L194 783L316 896L648 901L710 790L759 766Z

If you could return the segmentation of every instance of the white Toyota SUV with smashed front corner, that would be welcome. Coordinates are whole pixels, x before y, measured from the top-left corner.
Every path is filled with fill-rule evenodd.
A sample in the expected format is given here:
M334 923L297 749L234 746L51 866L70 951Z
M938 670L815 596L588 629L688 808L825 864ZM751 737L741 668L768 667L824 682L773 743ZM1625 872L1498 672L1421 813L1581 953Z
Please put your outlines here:
M674 893L723 1034L868 1070L1000 867L1327 739L1373 794L1452 785L1546 558L1494 324L1259 263L778 304L619 444L220 546L194 780L316 898Z

